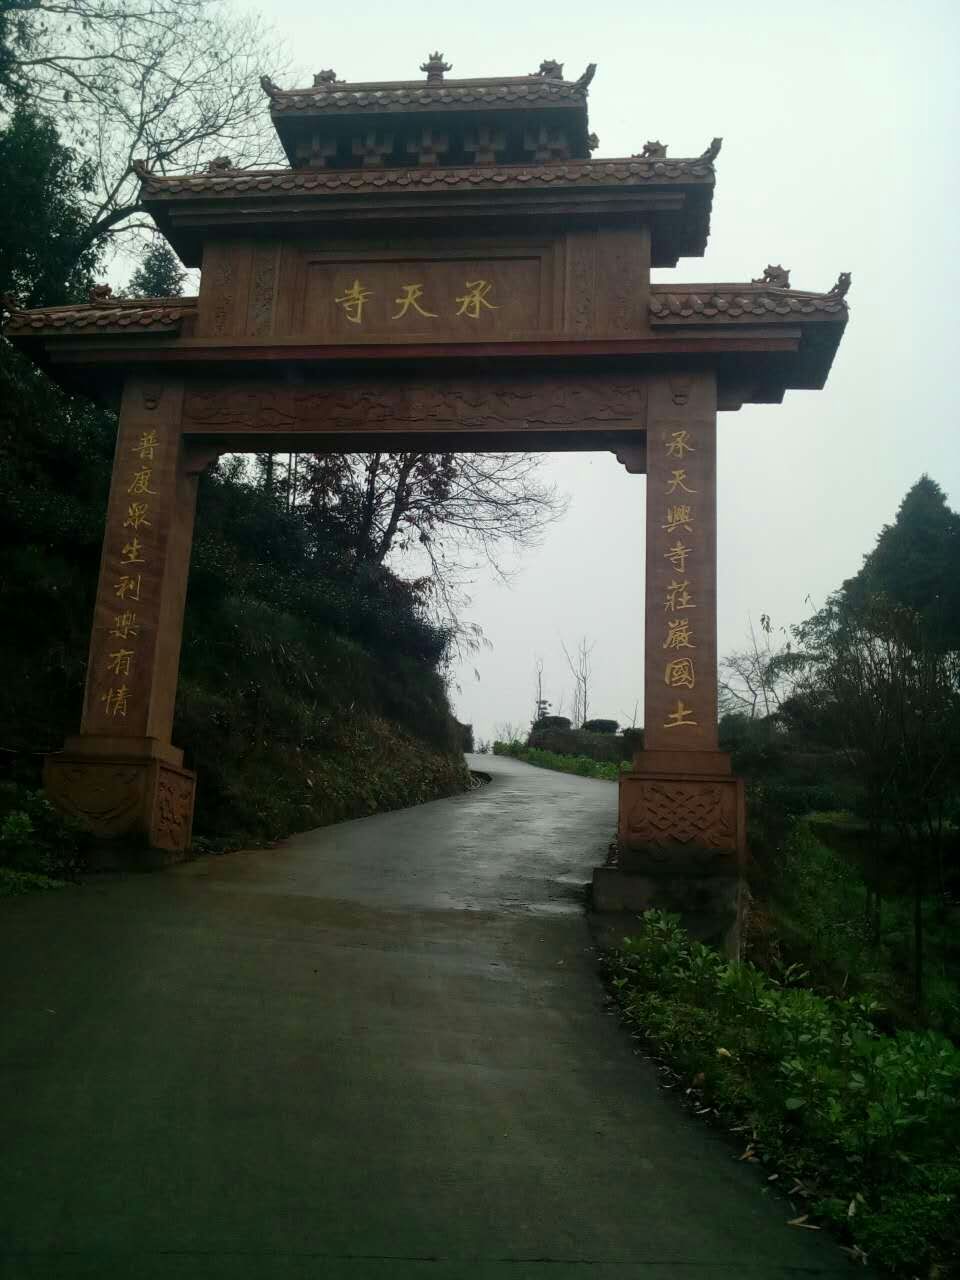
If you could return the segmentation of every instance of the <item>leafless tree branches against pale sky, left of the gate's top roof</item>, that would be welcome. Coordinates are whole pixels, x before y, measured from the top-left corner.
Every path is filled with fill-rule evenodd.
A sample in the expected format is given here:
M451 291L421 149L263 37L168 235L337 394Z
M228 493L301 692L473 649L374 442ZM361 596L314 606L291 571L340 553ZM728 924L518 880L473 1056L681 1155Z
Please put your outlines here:
M151 227L134 160L196 172L279 159L260 76L283 74L259 18L224 0L0 0L8 90L90 161L88 243Z

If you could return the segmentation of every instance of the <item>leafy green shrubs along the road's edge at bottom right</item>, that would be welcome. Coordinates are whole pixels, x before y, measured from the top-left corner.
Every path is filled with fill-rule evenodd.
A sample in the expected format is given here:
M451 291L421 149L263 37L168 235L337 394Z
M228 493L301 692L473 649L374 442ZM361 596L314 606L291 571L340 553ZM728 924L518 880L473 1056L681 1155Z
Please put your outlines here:
M791 1174L814 1216L895 1274L960 1260L960 1051L883 1036L879 1006L771 977L646 913L609 960L625 1018Z

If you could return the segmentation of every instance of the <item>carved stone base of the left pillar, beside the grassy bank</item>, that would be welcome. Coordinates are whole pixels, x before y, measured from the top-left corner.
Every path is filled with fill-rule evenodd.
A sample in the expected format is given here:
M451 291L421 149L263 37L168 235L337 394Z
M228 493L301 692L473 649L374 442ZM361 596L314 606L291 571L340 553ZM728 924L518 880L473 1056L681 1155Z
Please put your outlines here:
M70 739L44 760L52 805L105 840L161 850L189 849L196 773L183 755L152 739Z

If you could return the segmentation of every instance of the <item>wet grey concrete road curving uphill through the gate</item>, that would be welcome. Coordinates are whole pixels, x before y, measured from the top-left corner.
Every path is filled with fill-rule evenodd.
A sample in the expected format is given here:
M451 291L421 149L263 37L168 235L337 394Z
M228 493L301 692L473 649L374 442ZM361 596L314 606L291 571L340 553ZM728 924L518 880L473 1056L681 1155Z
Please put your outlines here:
M609 783L0 904L3 1280L847 1275L658 1092L580 887Z

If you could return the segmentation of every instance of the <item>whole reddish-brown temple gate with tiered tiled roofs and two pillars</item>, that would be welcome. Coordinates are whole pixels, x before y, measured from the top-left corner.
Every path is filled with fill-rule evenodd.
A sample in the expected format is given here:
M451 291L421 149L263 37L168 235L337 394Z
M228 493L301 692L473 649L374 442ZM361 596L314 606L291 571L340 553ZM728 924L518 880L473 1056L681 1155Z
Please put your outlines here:
M220 453L609 449L648 476L645 744L595 901L730 897L744 799L717 745L717 412L823 387L849 276L652 284L704 252L719 138L593 159L593 65L421 70L264 79L288 169L138 166L198 297L104 285L8 317L51 376L119 407L83 716L47 792L101 836L189 846L196 778L170 733L197 477Z

